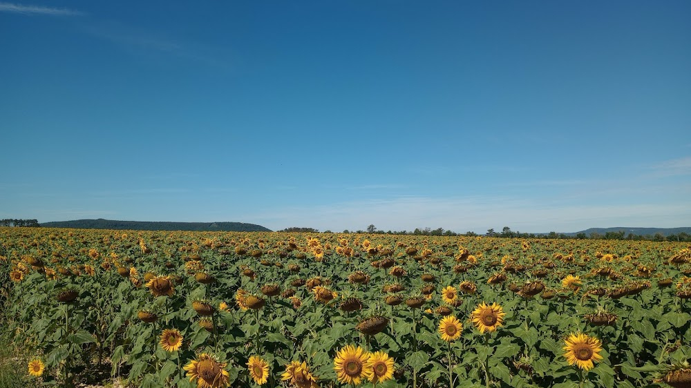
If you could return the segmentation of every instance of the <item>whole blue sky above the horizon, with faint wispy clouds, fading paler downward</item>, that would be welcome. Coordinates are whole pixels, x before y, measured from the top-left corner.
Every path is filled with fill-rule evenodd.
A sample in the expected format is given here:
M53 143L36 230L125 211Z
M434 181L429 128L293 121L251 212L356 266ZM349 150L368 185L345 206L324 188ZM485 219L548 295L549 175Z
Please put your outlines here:
M689 1L0 0L0 218L691 226Z

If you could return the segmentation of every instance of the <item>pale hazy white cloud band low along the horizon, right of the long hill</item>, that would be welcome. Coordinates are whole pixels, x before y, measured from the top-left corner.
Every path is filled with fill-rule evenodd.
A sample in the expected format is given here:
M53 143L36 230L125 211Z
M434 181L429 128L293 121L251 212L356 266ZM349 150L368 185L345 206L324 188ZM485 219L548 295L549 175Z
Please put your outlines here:
M510 197L398 197L389 200L344 202L326 206L266 209L242 216L270 229L290 226L320 230L364 230L375 224L381 230L442 227L456 232L502 229L547 233L576 232L591 227L688 226L688 203L665 204L546 204Z

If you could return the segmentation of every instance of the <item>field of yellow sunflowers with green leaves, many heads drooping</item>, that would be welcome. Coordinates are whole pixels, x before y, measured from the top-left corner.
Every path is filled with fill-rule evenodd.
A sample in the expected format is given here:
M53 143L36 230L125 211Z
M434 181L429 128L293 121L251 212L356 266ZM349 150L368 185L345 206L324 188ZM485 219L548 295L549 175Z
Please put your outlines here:
M622 240L0 229L39 385L691 387L691 249Z

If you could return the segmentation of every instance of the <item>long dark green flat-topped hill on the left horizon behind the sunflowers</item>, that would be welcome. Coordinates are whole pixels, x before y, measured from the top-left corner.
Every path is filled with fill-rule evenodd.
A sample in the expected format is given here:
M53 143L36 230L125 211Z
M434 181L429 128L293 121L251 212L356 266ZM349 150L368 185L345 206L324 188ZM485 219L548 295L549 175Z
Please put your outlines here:
M133 231L223 231L223 232L270 232L261 225L243 222L148 222L148 221L115 221L74 220L43 222L44 228L73 229L128 229Z

